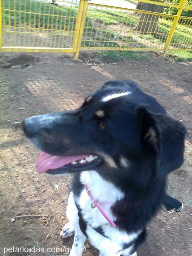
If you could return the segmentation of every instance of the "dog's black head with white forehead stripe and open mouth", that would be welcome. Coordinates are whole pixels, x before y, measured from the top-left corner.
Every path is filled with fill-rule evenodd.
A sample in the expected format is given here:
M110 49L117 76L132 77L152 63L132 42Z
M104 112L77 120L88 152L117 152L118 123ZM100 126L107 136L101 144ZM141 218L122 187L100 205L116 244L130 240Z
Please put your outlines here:
M132 81L105 83L79 109L29 117L23 130L43 151L39 173L163 178L183 162L184 126Z

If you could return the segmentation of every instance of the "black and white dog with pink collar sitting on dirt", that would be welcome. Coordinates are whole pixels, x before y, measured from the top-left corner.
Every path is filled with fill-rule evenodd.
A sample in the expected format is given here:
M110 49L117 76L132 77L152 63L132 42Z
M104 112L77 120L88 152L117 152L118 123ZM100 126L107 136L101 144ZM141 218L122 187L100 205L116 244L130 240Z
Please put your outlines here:
M70 256L86 238L100 256L136 255L161 205L166 175L182 165L184 126L131 80L109 81L76 110L29 117L23 129L43 152L39 173L74 174L63 238Z

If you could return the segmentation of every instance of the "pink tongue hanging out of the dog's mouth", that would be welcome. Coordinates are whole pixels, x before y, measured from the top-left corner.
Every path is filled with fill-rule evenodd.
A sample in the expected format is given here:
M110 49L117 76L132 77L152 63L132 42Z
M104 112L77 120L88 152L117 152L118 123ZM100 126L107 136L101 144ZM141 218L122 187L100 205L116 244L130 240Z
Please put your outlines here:
M70 157L60 157L57 155L50 155L45 152L41 152L37 161L35 162L35 167L38 173L44 173L49 169L57 169L61 166L68 165L73 161L79 161L83 158L88 157L88 155L74 155Z

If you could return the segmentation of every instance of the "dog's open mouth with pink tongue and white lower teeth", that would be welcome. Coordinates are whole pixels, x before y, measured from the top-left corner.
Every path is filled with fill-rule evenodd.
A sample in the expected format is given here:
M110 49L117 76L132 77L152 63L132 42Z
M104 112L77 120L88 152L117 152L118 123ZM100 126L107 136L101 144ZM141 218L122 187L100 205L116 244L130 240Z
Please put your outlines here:
M93 170L93 167L101 165L102 162L102 158L96 155L63 157L42 152L35 163L35 167L38 173L61 174Z

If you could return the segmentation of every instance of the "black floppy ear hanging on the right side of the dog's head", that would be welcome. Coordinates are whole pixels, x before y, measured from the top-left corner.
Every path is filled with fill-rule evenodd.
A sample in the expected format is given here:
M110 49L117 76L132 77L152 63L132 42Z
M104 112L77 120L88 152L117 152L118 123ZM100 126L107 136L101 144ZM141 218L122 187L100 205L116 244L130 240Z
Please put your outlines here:
M145 149L156 154L156 174L162 179L183 163L186 129L167 114L153 114L139 107L140 136Z

